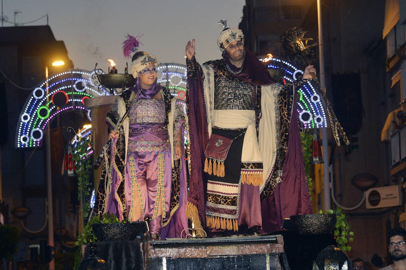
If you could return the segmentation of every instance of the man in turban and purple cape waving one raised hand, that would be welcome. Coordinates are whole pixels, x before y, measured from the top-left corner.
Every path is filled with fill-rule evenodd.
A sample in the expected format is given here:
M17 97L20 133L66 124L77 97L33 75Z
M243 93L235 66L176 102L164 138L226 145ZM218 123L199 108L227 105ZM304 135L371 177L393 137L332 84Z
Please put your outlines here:
M244 48L242 31L226 28L226 20L219 24L222 59L201 66L194 39L186 45L191 147L186 214L212 232L276 231L284 217L311 213L295 93L315 69L307 66L296 85L276 83Z

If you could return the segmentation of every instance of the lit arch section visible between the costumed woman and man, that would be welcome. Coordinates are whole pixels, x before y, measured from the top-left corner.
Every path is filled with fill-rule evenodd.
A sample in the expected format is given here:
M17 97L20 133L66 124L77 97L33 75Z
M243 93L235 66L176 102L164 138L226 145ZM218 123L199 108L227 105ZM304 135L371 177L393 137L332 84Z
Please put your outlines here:
M158 83L166 86L171 93L184 100L186 97L186 84L188 81L188 69L185 65L176 63L158 64Z

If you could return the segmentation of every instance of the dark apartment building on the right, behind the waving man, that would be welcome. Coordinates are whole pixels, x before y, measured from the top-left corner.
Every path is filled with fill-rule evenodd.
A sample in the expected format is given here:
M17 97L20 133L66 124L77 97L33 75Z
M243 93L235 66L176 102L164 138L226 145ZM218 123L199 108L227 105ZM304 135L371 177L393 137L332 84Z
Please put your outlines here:
M404 212L402 205L367 209L364 191L358 184L402 185L406 168L406 162L402 162L406 151L402 156L400 150L403 144L399 139L392 139L391 145L391 135L387 135L386 142L381 141L388 114L394 110L403 112L406 97L403 94L406 88L402 86L406 81L402 80L405 65L402 2L321 1L327 96L350 145L337 147L329 135L329 164L324 166L329 166L333 189L323 186L323 165L315 165L313 211L326 210L323 190L332 191L331 207L343 208L355 233L348 255L365 261L370 261L374 254L387 257L387 230L400 225L398 220L402 221ZM403 11L406 11L404 6ZM240 28L246 34L248 49L257 56L269 52L278 57L277 41L291 27L302 28L313 42L319 42L315 0L246 1ZM319 63L313 64L318 69ZM403 123L399 121L398 125ZM391 132L395 131L392 127ZM397 150L397 159L393 157L393 149Z

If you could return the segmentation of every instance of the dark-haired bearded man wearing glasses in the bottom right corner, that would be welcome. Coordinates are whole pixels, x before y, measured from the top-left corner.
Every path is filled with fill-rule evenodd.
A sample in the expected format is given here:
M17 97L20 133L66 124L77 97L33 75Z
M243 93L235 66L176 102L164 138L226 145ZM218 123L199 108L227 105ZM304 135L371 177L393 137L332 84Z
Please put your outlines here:
M402 228L393 228L389 231L389 255L393 264L381 268L381 270L404 270L406 269L406 231Z

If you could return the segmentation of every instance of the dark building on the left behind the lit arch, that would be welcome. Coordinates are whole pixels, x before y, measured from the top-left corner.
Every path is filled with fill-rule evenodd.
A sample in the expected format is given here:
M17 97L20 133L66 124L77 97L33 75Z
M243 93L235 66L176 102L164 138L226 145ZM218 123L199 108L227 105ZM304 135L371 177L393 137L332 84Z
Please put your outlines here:
M63 60L64 66L52 66L55 60ZM15 134L24 103L34 88L45 80L47 66L50 77L73 69L65 43L55 39L49 26L0 28L0 201L9 209L6 213L8 216L3 215L3 223L19 229L20 241L26 248L28 259L28 247L37 245L39 239L48 238L46 149L45 144L36 148L16 149ZM73 137L64 131L64 127L75 126L84 118L87 118L86 114L61 115L50 123L53 223L57 252L69 249L66 242L76 239L78 232L76 181L61 175L64 141ZM12 214L18 207L30 210L22 221Z

